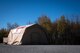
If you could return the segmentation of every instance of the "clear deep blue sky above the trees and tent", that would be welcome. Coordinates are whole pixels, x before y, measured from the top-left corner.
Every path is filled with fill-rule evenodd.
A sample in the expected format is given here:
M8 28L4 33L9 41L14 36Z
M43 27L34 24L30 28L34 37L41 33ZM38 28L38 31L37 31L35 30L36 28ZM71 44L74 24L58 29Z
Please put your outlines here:
M0 28L7 23L26 25L47 15L55 21L61 15L80 15L79 0L0 0Z

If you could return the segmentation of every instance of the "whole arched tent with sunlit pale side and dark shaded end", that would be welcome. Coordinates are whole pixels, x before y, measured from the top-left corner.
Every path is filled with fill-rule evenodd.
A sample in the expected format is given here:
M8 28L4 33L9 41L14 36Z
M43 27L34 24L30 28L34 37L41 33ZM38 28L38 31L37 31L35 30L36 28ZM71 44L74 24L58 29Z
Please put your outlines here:
M9 45L45 45L49 44L47 31L38 24L19 26L8 35Z

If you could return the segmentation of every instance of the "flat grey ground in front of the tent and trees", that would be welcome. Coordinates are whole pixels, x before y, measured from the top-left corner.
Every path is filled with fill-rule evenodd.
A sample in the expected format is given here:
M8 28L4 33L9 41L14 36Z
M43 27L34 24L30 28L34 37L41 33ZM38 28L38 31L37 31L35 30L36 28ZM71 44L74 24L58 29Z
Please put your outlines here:
M80 53L79 45L0 45L0 53Z

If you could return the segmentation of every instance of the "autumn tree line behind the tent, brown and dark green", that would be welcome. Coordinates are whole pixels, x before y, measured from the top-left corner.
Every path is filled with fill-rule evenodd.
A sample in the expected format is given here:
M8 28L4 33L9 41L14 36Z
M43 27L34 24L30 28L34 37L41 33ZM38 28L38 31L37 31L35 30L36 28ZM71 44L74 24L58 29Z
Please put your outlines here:
M47 30L52 45L80 45L80 16L70 19L63 15L54 22L48 16L40 16L36 23ZM8 36L11 29L18 26L17 23L8 23L7 29L2 28L0 42L2 37Z

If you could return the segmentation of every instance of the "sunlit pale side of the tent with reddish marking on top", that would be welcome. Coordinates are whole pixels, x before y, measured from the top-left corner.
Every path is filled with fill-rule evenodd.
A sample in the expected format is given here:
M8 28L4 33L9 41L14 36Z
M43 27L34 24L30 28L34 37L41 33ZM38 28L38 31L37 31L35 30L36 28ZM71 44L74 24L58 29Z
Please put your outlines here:
M15 29L11 29L8 35L8 44L9 45L20 45L25 29L32 25L34 24L19 26Z

